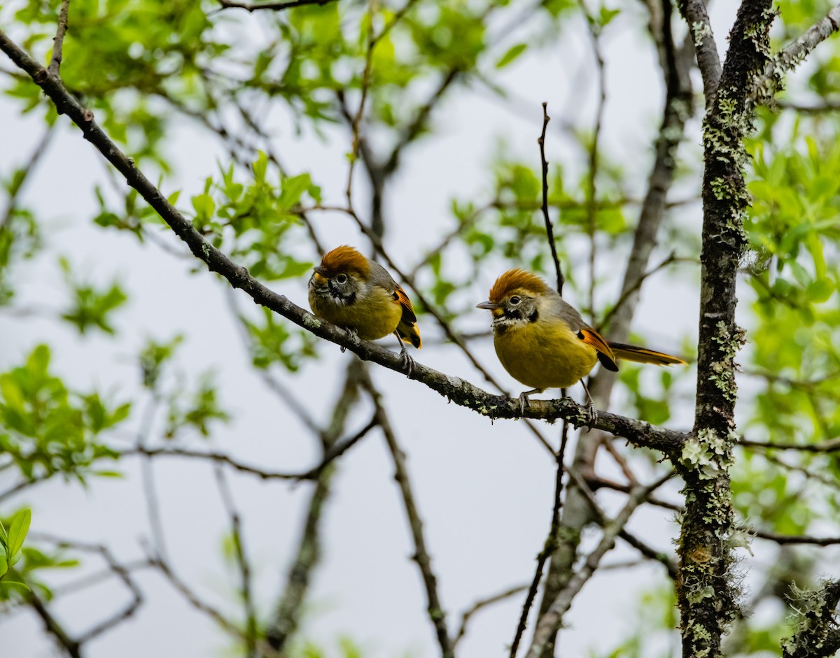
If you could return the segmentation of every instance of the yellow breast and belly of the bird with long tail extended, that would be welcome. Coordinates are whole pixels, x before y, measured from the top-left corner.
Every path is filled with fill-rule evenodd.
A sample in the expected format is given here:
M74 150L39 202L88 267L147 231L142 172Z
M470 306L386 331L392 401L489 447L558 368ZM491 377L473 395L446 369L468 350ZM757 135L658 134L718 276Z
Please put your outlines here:
M564 389L595 368L597 352L562 320L540 319L496 331L496 355L513 379L532 389Z

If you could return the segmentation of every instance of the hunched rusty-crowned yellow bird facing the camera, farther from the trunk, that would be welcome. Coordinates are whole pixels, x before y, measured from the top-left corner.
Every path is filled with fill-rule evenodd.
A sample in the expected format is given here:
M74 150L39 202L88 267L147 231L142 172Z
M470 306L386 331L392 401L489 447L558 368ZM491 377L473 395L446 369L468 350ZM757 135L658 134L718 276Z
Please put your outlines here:
M323 254L321 264L312 270L308 284L312 313L365 341L394 334L411 376L414 359L405 343L419 349L423 341L412 302L388 270L346 244Z

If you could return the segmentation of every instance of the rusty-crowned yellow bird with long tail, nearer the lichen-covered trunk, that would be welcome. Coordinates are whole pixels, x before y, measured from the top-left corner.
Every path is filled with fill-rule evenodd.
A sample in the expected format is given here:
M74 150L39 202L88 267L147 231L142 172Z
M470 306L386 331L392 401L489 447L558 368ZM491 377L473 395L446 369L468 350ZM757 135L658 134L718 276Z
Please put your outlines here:
M607 342L585 323L537 274L509 269L496 279L489 299L477 305L493 314L493 345L501 365L521 384L533 387L519 396L525 412L528 396L545 389L583 384L590 427L596 421L592 396L583 380L597 362L617 372L618 359L672 365L685 361L646 347Z

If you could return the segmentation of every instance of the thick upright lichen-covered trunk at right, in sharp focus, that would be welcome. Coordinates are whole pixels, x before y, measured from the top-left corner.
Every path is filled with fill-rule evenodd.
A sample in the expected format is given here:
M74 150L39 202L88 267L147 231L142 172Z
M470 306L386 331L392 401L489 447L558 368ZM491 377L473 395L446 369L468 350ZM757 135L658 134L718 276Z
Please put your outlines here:
M722 655L722 636L738 614L732 572L732 462L737 400L735 354L743 330L735 323L735 284L746 238L749 203L743 178L743 140L751 126L749 90L768 60L770 0L745 0L729 37L717 92L709 102L703 133L703 231L701 308L695 426L678 468L685 482L685 514L678 553L682 655Z

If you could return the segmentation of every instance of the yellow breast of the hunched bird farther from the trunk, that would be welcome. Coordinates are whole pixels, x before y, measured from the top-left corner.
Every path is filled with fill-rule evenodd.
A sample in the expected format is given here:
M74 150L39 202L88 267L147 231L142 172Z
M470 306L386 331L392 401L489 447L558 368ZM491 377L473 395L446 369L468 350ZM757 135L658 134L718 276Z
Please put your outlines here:
M332 297L309 293L312 312L333 325L353 329L365 341L375 341L396 331L402 317L399 303L387 290L374 286L352 304L336 303Z

